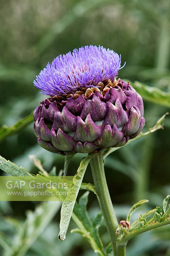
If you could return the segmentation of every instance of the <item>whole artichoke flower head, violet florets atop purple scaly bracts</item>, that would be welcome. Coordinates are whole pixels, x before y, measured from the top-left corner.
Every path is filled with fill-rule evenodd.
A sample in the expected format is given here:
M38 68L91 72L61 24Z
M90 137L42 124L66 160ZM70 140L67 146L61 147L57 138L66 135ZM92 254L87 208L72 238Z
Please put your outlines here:
M47 64L34 85L50 95L34 111L41 147L62 155L124 146L142 130L143 100L116 80L121 57L112 50L85 46Z

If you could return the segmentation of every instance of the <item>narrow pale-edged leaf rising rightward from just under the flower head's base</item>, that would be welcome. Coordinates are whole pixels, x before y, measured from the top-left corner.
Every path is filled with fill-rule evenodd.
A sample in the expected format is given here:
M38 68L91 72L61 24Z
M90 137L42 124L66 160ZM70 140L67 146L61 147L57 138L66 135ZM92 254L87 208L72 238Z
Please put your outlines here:
M163 125L162 122L164 121L166 115L168 115L169 113L165 113L161 118L159 118L159 120L156 122L156 124L149 129L148 132L140 132L138 134L138 136L136 136L134 139L129 140L124 146L129 145L130 143L132 143L135 140L138 140L142 137L145 137L146 135L152 133L152 132L156 132L157 130L163 129ZM105 150L103 150L103 158L106 158L108 155L110 155L112 152L116 151L117 149L122 148L122 147L118 147L118 148L107 148Z

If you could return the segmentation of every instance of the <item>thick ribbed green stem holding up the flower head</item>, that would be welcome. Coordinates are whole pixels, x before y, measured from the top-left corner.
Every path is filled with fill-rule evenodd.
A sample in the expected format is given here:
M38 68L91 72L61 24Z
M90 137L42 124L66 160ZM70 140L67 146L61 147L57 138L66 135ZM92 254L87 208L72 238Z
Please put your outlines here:
M113 209L104 173L102 152L98 152L92 157L92 159L90 160L90 166L94 184L96 187L97 198L110 236L114 256L125 256L125 247L117 247L116 229L118 226L118 222Z

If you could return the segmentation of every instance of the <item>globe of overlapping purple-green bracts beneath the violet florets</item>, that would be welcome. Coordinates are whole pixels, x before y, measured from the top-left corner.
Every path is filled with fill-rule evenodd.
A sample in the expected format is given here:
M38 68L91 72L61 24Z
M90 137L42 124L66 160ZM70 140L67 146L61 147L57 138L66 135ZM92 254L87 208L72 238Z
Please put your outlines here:
M124 146L145 124L141 96L120 79L76 99L46 99L34 119L39 145L62 155Z

